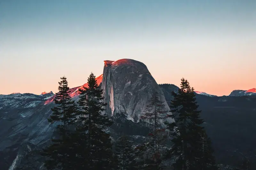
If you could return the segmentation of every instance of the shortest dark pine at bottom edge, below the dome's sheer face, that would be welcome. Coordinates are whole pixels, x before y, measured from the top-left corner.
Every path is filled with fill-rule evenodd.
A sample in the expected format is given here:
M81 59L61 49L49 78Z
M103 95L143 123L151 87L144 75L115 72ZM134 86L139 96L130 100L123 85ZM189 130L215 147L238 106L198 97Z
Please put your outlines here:
M135 154L132 143L125 136L121 136L115 146L116 155L119 160L120 170L135 170Z

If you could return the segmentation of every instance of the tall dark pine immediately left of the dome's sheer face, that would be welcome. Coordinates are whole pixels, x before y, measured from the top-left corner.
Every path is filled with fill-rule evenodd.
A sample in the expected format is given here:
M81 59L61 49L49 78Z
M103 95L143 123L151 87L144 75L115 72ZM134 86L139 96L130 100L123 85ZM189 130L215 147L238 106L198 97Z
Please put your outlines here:
M77 157L80 161L77 169L113 169L117 161L111 150L110 135L105 132L112 122L102 115L105 103L102 89L97 85L93 73L88 78L88 87L79 89L79 122L77 126Z

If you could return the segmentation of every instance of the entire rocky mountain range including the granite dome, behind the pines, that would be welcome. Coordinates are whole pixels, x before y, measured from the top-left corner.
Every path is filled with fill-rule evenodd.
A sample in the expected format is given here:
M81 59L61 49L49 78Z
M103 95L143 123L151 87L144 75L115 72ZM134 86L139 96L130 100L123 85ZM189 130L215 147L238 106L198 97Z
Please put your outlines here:
M136 141L144 138L151 125L140 122L139 117L147 111L152 89L157 89L161 95L164 110L170 110L172 92L179 90L173 84L158 85L145 64L131 59L104 61L103 74L96 80L107 103L105 113L124 125L123 129L110 129L113 139L118 137L120 130ZM84 87L88 87L87 83L70 88L70 96L77 100L78 89ZM256 133L256 89L234 90L229 96L221 97L205 92L195 93L218 163L235 165L241 159L240 153L248 155L256 151L256 137L253 136ZM56 126L47 121L52 113L50 108L54 106L54 97L53 92L0 95L2 169L14 170L22 164L25 153L31 148L42 148L49 142ZM121 113L126 118L119 119Z

